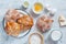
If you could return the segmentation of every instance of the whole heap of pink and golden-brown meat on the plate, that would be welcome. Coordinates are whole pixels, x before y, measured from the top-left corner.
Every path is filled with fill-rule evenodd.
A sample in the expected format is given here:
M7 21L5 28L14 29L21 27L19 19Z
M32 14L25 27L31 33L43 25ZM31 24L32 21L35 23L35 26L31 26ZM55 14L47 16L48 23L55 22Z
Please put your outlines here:
M8 10L4 20L4 30L12 36L18 36L20 32L26 31L33 25L33 19L30 15L22 14L15 9Z

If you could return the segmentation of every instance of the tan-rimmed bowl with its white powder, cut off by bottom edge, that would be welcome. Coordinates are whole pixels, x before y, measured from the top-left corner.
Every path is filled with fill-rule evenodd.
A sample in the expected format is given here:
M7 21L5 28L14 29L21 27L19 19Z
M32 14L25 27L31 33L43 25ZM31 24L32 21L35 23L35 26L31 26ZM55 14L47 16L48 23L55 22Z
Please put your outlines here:
M34 37L32 38L32 36L34 36ZM40 38L37 38L37 37L40 37ZM33 43L31 41L33 41ZM41 43L38 43L36 41L38 41ZM29 44L44 44L44 37L43 37L43 35L41 33L38 33L38 32L37 33L32 33L29 36Z

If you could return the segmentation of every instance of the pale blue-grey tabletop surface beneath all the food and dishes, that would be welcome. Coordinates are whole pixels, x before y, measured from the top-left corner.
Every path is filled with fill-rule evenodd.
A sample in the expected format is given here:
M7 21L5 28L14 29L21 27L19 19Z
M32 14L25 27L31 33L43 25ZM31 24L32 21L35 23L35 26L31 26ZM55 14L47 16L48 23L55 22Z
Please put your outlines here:
M25 0L0 0L0 44L28 44L29 35L33 32L37 32L36 28L35 28L35 24L32 28L31 32L22 38L9 37L9 36L6 35L6 33L3 31L2 20L3 20L4 13L7 12L7 10L8 9L20 9L24 1ZM43 2L43 4L48 3L48 4L52 6L52 8L57 9L57 12L56 12L55 16L53 18L54 23L53 23L53 26L52 26L51 31L52 30L62 31L62 33L63 33L62 42L59 41L57 44L66 44L66 28L59 28L59 24L58 24L58 15L64 14L66 16L66 0L26 0L26 1L30 2L30 7L28 9L28 12L30 11L30 9L32 8L32 4L35 1ZM36 22L35 19L36 18L34 18L34 23ZM46 41L51 31L43 34L44 40L45 40L45 44L51 43L51 42Z

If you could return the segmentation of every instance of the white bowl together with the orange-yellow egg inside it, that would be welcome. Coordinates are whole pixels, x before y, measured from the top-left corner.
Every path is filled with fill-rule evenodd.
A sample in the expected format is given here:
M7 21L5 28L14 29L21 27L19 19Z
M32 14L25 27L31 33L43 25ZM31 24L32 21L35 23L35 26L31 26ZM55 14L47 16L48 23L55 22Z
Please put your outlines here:
M34 12L35 14L40 14L40 13L43 12L44 6L43 6L43 3L41 3L41 2L35 2L35 3L33 4L32 10L33 10L33 12Z

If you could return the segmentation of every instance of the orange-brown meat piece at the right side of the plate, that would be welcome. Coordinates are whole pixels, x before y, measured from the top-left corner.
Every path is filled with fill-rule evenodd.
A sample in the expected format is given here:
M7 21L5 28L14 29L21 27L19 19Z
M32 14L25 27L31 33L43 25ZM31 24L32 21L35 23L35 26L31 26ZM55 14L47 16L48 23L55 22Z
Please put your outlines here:
M30 15L23 15L18 19L18 23L24 25L33 25L33 19Z

